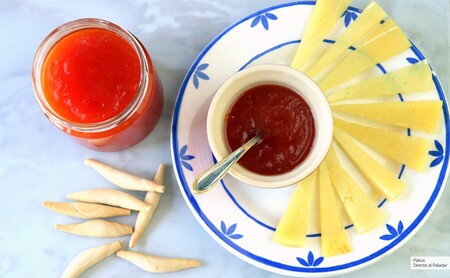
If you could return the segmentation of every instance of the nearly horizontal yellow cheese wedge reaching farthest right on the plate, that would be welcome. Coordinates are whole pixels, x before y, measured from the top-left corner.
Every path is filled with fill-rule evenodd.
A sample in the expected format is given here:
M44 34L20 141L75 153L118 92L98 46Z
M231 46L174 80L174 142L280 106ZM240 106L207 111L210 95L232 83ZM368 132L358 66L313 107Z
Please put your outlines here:
M375 121L433 133L442 114L442 101L406 101L331 105L342 111Z

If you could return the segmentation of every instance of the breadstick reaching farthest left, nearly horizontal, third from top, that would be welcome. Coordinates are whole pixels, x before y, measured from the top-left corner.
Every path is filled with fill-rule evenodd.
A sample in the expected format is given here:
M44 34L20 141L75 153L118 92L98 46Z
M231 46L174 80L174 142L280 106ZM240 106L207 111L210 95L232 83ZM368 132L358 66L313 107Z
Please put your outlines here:
M129 209L83 202L43 202L45 208L79 218L104 218L130 215Z

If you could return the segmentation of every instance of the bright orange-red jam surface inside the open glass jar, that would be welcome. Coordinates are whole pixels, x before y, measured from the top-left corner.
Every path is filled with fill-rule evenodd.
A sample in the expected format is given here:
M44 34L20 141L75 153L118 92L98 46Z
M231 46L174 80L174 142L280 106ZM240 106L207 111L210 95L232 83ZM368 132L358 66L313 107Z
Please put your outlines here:
M98 123L122 112L136 95L139 57L118 34L84 29L60 40L47 55L42 88L49 105L76 123Z

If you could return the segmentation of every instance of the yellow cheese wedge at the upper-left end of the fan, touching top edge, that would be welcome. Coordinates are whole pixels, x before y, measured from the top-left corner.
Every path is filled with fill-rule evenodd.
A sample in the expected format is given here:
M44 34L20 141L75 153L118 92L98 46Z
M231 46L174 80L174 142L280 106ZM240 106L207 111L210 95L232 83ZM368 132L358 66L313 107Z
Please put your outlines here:
M317 48L330 33L352 0L317 0L291 66L305 72Z

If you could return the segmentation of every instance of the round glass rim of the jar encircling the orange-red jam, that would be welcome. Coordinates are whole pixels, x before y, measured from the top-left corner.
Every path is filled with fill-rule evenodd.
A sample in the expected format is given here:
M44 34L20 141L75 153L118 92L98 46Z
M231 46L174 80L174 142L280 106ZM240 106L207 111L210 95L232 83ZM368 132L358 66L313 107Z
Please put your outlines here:
M115 34L121 36L126 40L135 50L140 64L140 78L139 85L136 90L136 94L120 113L117 115L106 119L104 121L96 123L79 123L73 122L65 119L59 115L47 102L42 84L41 84L41 71L43 63L50 52L50 50L63 38L84 29L99 28L108 31L112 31ZM149 86L149 61L145 54L143 46L138 41L138 39L128 30L114 24L110 21L98 18L80 18L73 21L66 22L52 32L50 32L45 39L42 41L38 47L36 54L33 59L32 65L32 83L34 89L34 95L36 100L46 117L58 128L66 131L77 131L82 133L96 133L111 130L118 126L120 123L124 122L130 118L134 112L139 108L140 104L143 102L145 93L147 92Z

